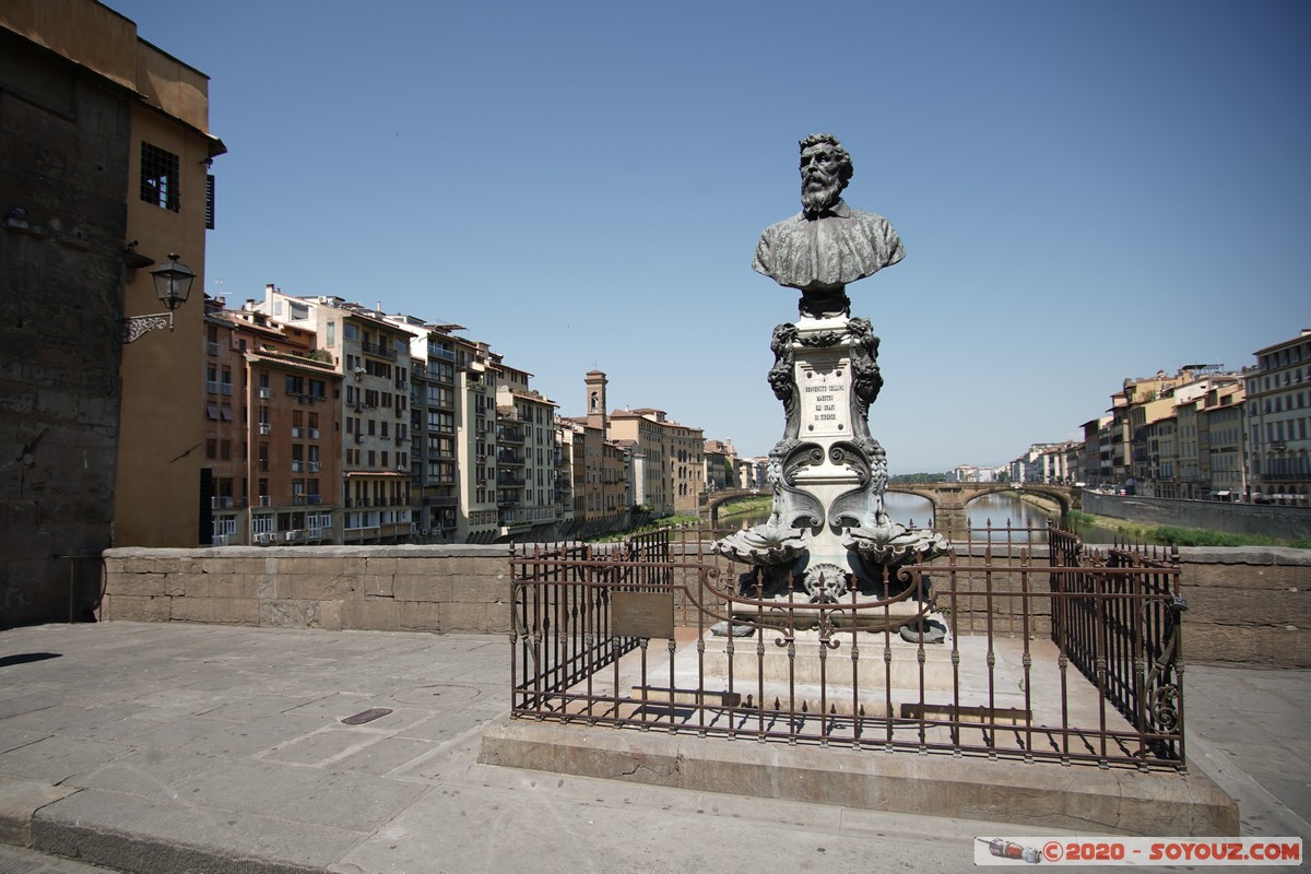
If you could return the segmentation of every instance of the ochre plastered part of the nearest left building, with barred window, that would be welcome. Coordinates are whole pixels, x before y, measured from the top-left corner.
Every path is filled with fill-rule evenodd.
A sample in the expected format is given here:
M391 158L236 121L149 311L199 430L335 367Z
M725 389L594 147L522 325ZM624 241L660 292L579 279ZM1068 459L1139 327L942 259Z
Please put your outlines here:
M212 224L208 77L136 34L136 24L90 0L10 0L9 30L117 93L126 114L101 119L105 160L127 161L117 316L163 309L151 269L177 254L195 274L191 299L156 330L122 347L113 544L194 546L201 540L205 233ZM60 180L54 174L51 185ZM111 198L111 191L87 193Z

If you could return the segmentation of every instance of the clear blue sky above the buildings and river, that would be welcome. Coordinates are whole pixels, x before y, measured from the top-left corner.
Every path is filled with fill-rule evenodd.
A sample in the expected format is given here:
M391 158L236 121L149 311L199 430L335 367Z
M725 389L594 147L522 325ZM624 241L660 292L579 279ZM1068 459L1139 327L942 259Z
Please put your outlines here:
M1078 436L1130 376L1311 328L1311 4L109 0L211 77L207 287L459 322L583 413L656 406L763 455L796 292L750 269L797 140L906 259L894 473Z

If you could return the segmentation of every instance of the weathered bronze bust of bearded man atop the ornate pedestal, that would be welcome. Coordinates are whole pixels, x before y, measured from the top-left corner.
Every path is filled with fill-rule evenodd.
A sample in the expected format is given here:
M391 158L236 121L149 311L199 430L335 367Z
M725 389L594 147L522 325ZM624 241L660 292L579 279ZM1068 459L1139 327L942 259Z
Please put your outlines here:
M800 145L802 210L764 229L751 267L800 290L802 316L847 316L847 283L906 253L888 219L852 210L842 199L853 172L842 143L831 134L812 134Z

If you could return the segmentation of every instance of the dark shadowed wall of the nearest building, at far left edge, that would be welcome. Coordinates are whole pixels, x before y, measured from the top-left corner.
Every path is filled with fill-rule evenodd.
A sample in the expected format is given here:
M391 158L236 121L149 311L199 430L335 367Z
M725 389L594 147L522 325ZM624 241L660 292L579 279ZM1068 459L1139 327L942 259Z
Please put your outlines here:
M111 542L131 115L4 26L0 58L4 629L89 618Z

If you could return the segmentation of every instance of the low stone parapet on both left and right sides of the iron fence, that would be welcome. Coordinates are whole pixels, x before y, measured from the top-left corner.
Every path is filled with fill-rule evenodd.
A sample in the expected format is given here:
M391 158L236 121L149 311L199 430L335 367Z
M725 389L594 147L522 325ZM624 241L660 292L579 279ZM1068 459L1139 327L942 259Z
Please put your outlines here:
M507 546L479 545L110 549L96 615L509 634L509 560ZM1311 667L1311 552L1184 548L1180 563L1185 662ZM695 611L678 617L695 622Z

